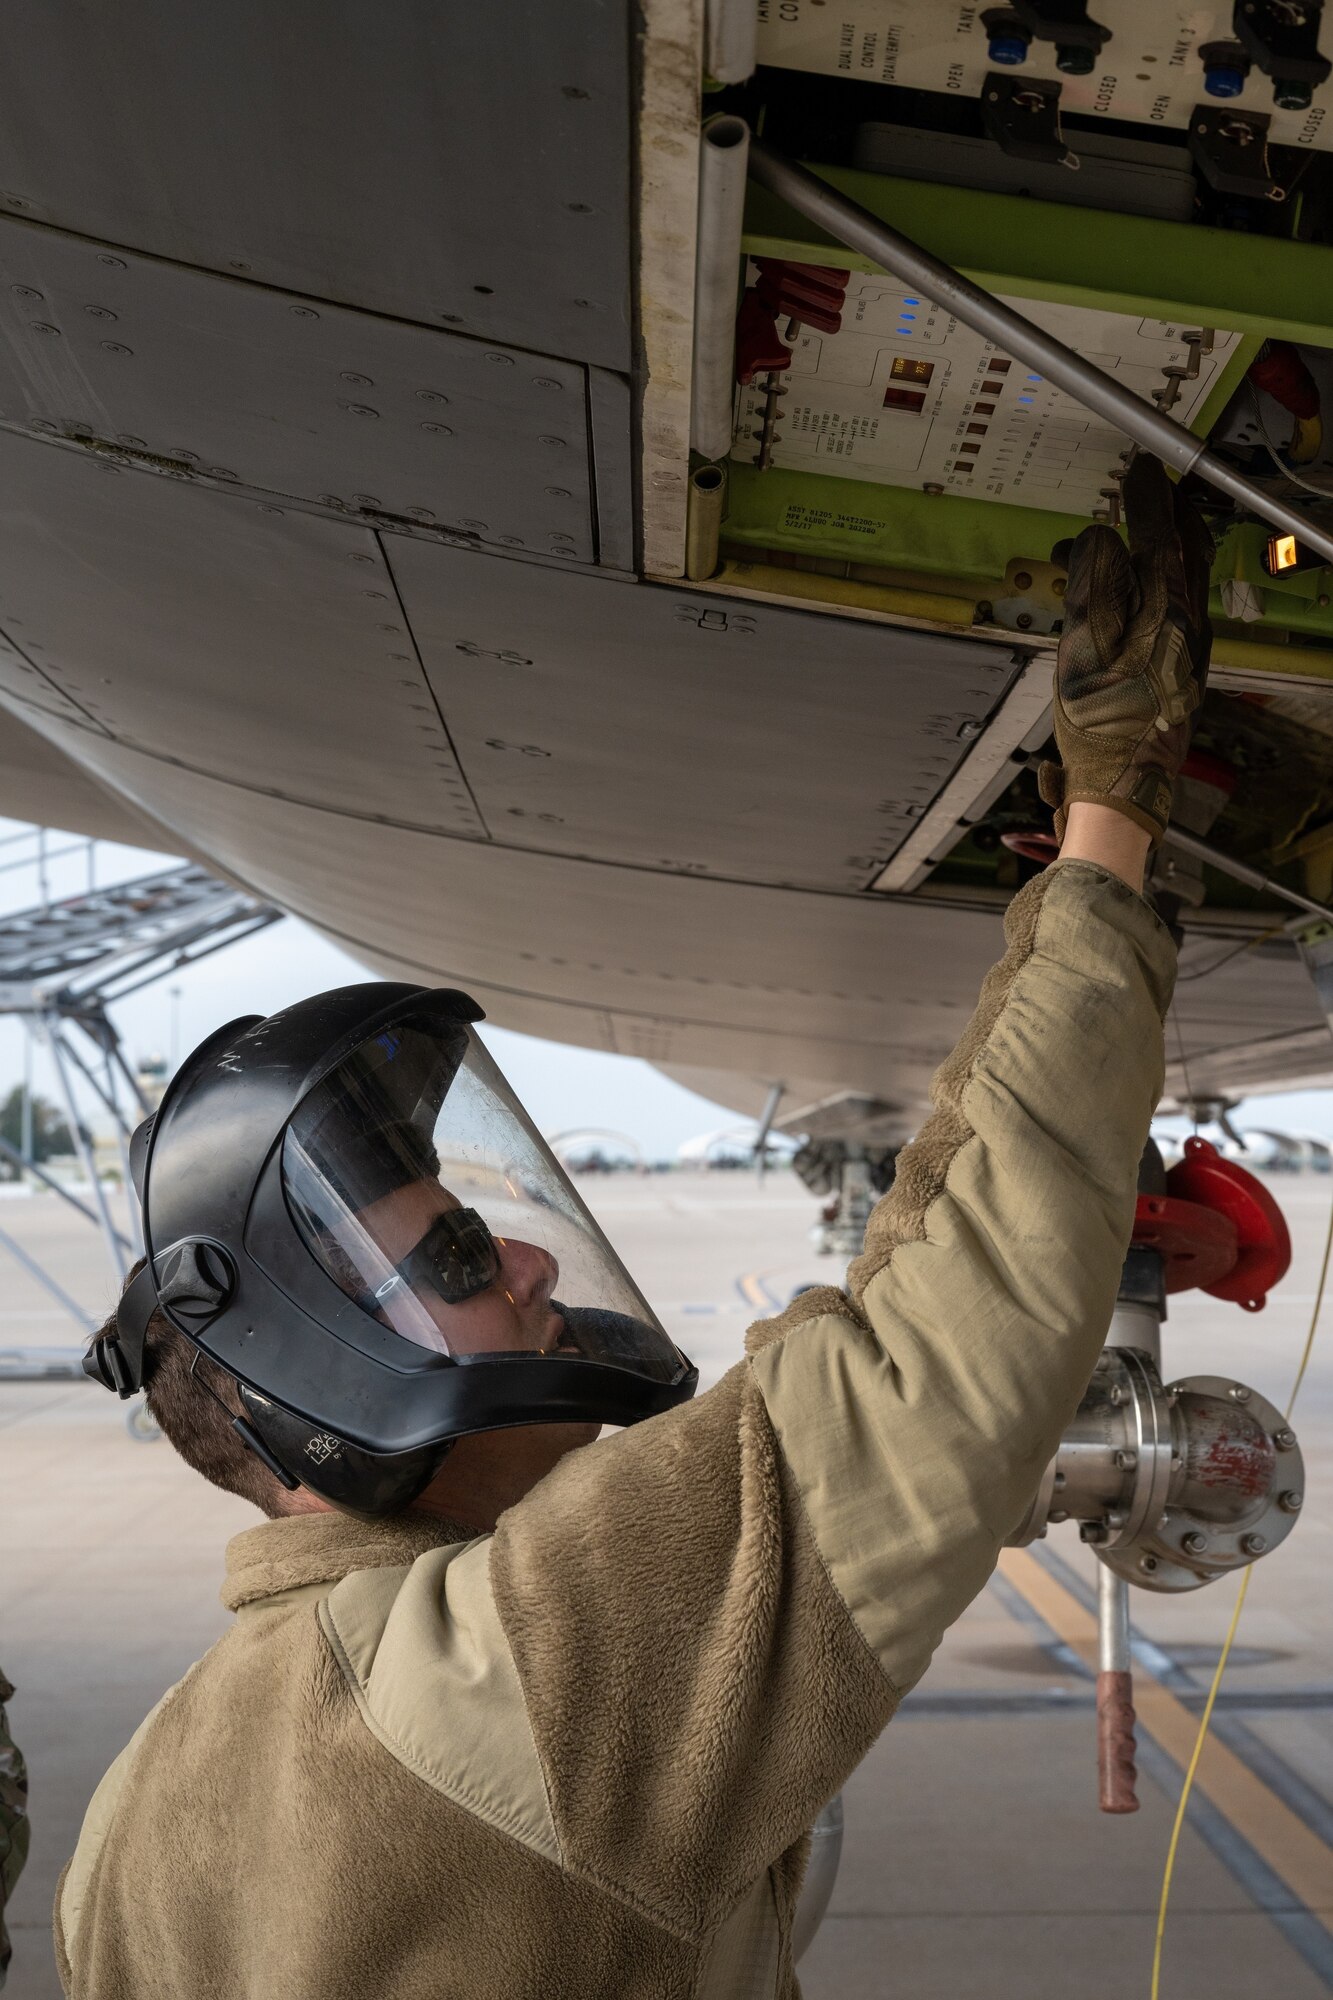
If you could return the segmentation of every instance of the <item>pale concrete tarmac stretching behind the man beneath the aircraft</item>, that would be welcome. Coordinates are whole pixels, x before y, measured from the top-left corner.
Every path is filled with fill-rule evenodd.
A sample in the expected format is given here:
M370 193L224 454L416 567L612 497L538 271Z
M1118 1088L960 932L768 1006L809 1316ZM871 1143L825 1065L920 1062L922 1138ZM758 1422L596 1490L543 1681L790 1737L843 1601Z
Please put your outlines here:
M1229 1374L1287 1402L1333 1180L1275 1176L1295 1262L1261 1316L1171 1302L1165 1374ZM815 1202L785 1172L588 1176L588 1204L701 1364L805 1282ZM88 1310L110 1302L92 1228L54 1196L0 1226ZM1333 1992L1333 1298L1295 1428L1307 1500L1255 1568L1181 1840L1163 2000ZM78 1328L0 1248L0 1348ZM10 1906L6 2000L56 2000L50 1902L94 1784L224 1630L222 1544L256 1522L82 1382L0 1382L0 1664L32 1772L32 1858ZM1181 1768L1235 1584L1133 1594L1141 1812L1097 1812L1087 1666L1095 1564L1071 1528L1007 1552L845 1792L843 1866L801 1966L805 2000L1121 2000L1149 1994Z

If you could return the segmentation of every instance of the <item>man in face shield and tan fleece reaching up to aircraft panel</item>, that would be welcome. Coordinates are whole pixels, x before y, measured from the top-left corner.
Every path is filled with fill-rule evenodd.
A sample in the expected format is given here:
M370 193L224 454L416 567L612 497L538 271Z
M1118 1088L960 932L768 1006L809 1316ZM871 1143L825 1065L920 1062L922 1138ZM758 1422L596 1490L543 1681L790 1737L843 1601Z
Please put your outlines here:
M1175 960L1143 868L1209 634L1207 536L1155 460L1125 494L1133 558L1071 556L1061 860L847 1292L707 1396L460 996L186 1066L92 1366L270 1520L88 1808L78 2000L797 1992L807 1828L1023 1516L1129 1242Z

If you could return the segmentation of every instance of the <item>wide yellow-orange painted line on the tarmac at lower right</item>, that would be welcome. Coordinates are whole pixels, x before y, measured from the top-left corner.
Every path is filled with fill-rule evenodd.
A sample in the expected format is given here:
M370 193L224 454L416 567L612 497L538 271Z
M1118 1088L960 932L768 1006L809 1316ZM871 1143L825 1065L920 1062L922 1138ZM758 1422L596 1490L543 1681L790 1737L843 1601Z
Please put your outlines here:
M999 1568L1005 1582L1027 1598L1055 1636L1097 1672L1093 1614L1023 1548L1003 1550ZM1199 1718L1137 1660L1135 1710L1149 1736L1185 1770L1199 1734ZM1091 1756L1089 1736L1089 1764ZM1203 1746L1195 1784L1311 1916L1333 1932L1333 1848L1217 1736L1209 1736Z

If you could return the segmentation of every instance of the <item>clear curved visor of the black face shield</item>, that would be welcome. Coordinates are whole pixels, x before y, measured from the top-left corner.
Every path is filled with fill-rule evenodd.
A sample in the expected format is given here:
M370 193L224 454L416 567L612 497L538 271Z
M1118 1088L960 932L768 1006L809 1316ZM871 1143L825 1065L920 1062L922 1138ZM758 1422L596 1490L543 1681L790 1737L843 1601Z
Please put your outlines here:
M300 1102L280 1164L310 1256L412 1348L691 1372L468 1024L370 1034Z

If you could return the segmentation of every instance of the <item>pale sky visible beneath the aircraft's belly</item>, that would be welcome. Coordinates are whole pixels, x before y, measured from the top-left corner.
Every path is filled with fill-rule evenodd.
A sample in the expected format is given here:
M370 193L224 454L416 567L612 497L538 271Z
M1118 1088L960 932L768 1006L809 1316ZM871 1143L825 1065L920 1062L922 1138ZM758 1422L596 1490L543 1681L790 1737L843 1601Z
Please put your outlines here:
M26 838L22 838L26 836ZM72 896L88 886L88 842L74 834L50 832L50 896ZM16 820L0 820L0 914L40 902L36 842ZM148 854L100 840L92 848L96 880L126 882L138 874L170 868L172 856ZM284 918L254 938L228 946L200 966L186 968L120 1002L116 1026L130 1060L186 1056L196 1042L238 1014L272 1014L292 1000L372 978L354 958L328 944L306 924ZM546 1132L598 1128L624 1132L648 1160L673 1158L677 1148L701 1132L735 1130L747 1120L707 1098L695 1096L632 1056L540 1042L506 1028L482 1030L496 1062ZM24 1074L24 1032L0 1016L0 1098ZM56 1094L46 1060L36 1058L34 1088ZM1171 1130L1179 1120L1167 1120ZM1237 1126L1313 1132L1333 1138L1333 1090L1281 1092L1249 1098L1233 1112ZM1185 1130L1185 1126L1181 1126Z

